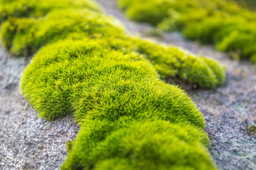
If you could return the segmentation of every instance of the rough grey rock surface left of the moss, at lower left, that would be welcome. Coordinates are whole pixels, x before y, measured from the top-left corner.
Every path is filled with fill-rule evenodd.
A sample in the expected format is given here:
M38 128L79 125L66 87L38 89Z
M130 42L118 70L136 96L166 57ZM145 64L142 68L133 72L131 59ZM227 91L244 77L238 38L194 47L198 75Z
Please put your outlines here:
M27 62L0 47L0 169L59 169L78 125L72 117L46 121L22 97L19 80Z

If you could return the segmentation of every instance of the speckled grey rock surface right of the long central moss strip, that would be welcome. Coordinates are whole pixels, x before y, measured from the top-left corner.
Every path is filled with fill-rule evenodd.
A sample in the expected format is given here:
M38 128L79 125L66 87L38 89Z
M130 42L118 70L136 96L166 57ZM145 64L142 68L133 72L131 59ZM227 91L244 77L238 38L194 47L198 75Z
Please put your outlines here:
M153 27L135 23L116 8L113 0L98 0L107 14L120 19L131 34L148 37ZM220 169L256 169L256 138L246 133L246 127L256 124L256 69L249 61L234 61L228 54L212 46L184 40L179 33L163 33L151 37L188 50L192 53L219 60L227 66L227 81L216 90L190 90L198 108L204 113L206 132L210 138L210 152Z

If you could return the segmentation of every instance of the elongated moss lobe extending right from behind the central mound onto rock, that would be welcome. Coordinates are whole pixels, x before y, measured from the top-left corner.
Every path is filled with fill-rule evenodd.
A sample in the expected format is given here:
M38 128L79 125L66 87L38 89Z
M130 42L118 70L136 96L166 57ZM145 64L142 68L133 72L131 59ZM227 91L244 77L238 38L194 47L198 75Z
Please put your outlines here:
M125 40L125 41L124 41ZM198 57L177 47L165 46L140 39L109 41L114 49L135 51L146 57L161 78L214 89L225 81L225 67L217 61Z

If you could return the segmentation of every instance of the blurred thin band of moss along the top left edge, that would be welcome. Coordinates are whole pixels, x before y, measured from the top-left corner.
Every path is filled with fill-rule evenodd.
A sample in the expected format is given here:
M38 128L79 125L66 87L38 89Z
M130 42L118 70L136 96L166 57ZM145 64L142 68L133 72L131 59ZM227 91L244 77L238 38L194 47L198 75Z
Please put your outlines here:
M11 0L0 1L0 23L8 17L40 17L53 9L88 8L100 12L93 0Z

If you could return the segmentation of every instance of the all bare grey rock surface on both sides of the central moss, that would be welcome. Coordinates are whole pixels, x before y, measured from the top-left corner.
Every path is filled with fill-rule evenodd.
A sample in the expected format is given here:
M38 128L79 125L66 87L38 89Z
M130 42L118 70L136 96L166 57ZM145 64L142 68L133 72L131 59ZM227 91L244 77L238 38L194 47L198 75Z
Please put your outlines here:
M120 19L128 31L150 36L153 27L126 19L114 0L98 0L106 13ZM184 40L179 33L151 37L180 46L227 65L227 82L216 90L191 90L204 113L210 152L220 169L256 169L256 138L246 126L256 123L256 69L249 62L228 59L211 46ZM0 169L59 169L66 157L66 143L79 129L72 117L46 121L37 117L19 90L20 73L27 62L10 58L0 47Z

